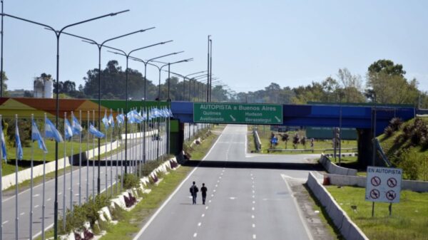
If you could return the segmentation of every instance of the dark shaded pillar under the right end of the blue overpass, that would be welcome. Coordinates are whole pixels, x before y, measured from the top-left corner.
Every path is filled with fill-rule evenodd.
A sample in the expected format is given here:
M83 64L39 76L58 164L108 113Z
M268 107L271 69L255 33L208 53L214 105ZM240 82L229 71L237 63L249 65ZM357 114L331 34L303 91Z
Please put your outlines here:
M366 128L357 128L358 163L360 167L367 167L372 163L373 157L373 131Z

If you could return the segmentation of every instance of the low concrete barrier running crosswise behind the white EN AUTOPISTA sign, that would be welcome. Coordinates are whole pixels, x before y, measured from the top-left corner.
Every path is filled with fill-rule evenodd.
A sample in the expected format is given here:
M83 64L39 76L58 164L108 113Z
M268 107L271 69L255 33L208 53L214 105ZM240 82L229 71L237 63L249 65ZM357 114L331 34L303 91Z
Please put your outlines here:
M325 174L330 179L330 184L338 186L366 187L366 177L346 176L338 174ZM402 180L402 189L414 192L428 192L428 182Z

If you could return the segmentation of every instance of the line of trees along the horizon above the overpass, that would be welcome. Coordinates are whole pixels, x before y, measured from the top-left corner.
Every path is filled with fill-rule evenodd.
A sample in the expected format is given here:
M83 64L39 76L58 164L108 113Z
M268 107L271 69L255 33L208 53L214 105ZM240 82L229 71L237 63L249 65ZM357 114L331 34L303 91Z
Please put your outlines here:
M236 93L225 85L213 85L211 100L213 102L278 104L376 102L419 105L420 108L428 108L427 92L418 89L417 79L405 78L405 73L401 64L382 59L367 68L364 80L361 75L352 74L347 68L341 68L335 76L328 76L321 82L312 81L310 85L301 85L296 88L288 86L281 88L278 83L270 83L263 90ZM51 75L46 73L41 74L39 78L54 80ZM85 83L78 86L71 80L61 81L58 88L60 97L98 98L98 69L89 70L83 80ZM159 86L155 83L147 79L147 100L167 100L168 89L170 100L206 100L207 85L198 80L186 79L183 83L183 78L167 78L160 85L160 91ZM129 68L128 98L143 99L144 88L143 74ZM31 97L31 93L26 91L24 96ZM118 66L116 60L109 61L101 72L101 98L126 98L126 71Z

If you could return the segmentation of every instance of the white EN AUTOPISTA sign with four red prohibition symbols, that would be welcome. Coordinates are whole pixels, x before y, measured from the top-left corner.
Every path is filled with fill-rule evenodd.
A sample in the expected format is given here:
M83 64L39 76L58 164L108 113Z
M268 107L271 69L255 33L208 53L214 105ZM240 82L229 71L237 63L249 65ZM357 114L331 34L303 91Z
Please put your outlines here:
M366 201L399 202L402 169L391 167L367 167Z

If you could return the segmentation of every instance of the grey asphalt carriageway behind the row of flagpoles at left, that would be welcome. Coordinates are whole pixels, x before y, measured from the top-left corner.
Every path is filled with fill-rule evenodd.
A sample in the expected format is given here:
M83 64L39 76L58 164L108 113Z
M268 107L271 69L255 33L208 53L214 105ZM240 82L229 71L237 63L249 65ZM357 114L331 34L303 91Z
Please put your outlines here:
M159 153L162 155L165 152L165 142L166 135L161 136L162 141L159 141ZM142 140L128 140L128 160L138 160L142 158L141 152L143 152ZM83 142L86 144L86 142ZM91 142L92 144L92 142ZM129 147L132 146L132 147ZM158 142L153 141L151 137L146 137L146 160L156 159L158 151ZM108 155L106 158L102 159L102 162L111 162L113 160L113 167L101 165L101 192L106 189L106 179L107 185L110 186L111 182L116 183L116 169L117 173L121 174L121 160L124 159L124 151L117 152L113 155ZM116 168L116 161L118 167ZM78 162L78 160L77 160ZM81 167L81 202L86 202L86 191L88 191L88 196L96 194L96 184L98 178L98 167L92 166L93 162L90 162L90 166L86 167L86 163ZM123 167L124 169L124 167ZM123 170L122 169L122 170ZM133 172L133 168L128 168L128 171ZM67 209L70 209L70 196L73 196L73 204L78 204L79 201L79 170L78 166L73 167L73 181L71 181L71 173L68 172L65 176L66 190L64 191L63 174L58 176L58 218L63 214L63 201L65 195L65 206ZM110 177L111 176L111 177ZM112 181L111 181L112 180ZM71 185L71 182L73 183ZM71 192L73 189L73 192ZM44 229L50 229L54 225L54 196L55 196L55 182L54 179L46 181L45 191L43 191L43 184L38 184L34 186L33 189L33 222L32 222L32 235L37 237L41 235L42 229L42 212L43 206L45 206L44 212ZM45 192L45 199L43 204L43 192ZM18 233L19 239L29 239L30 234L30 206L31 206L31 192L30 189L21 191L18 195ZM4 195L2 205L2 231L3 239L15 239L16 233L16 197L14 192L8 192L8 195Z

